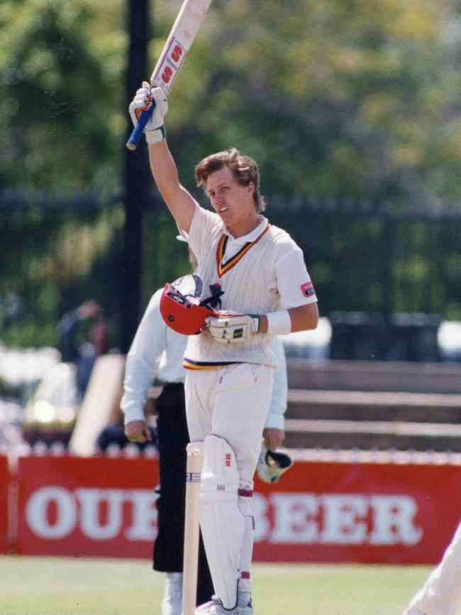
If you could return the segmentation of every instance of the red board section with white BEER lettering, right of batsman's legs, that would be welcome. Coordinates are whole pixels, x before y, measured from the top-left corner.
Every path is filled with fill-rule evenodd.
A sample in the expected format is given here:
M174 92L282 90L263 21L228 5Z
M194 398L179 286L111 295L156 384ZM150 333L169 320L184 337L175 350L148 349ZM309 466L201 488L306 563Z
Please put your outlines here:
M255 560L435 563L461 518L460 466L296 462L255 490Z

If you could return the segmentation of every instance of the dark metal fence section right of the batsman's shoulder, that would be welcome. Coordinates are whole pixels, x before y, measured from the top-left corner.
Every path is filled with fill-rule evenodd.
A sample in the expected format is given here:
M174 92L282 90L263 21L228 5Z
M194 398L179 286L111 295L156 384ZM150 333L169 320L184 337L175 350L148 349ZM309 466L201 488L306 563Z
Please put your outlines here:
M270 217L304 250L322 311L461 320L461 211L277 203Z

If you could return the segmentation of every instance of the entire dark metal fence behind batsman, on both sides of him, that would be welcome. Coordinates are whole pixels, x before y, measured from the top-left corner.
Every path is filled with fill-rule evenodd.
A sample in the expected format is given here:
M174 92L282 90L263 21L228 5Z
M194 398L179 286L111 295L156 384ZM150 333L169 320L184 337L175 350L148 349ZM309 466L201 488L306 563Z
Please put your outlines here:
M359 312L368 324L402 313L461 320L461 212L274 199L267 215L304 250L322 315L340 322L338 312ZM55 345L62 313L96 298L117 345L124 219L116 196L1 195L0 342ZM143 307L188 270L176 234L152 197L143 212Z

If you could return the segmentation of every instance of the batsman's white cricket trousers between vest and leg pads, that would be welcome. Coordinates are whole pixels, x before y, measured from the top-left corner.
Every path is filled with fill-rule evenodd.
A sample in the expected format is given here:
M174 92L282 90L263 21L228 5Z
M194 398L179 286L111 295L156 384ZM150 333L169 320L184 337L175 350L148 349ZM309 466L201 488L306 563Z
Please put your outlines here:
M207 435L232 447L240 489L252 489L261 452L261 437L272 397L274 368L238 363L191 369L185 382L187 427L191 442Z

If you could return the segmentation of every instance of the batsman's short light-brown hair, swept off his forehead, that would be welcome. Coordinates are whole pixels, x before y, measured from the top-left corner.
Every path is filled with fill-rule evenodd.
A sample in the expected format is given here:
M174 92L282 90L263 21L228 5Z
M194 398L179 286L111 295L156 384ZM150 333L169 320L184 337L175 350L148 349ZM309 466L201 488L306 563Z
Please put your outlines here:
M197 186L206 188L206 180L211 173L218 171L224 167L229 168L234 178L240 185L248 186L250 182L255 186L253 199L255 200L255 209L259 212L264 212L266 203L264 197L260 195L260 170L255 160L249 156L243 156L235 148L206 156L195 167L195 179Z

